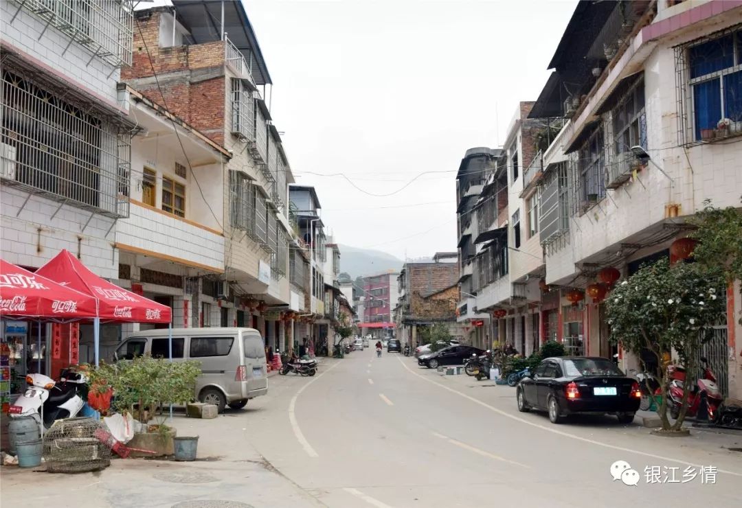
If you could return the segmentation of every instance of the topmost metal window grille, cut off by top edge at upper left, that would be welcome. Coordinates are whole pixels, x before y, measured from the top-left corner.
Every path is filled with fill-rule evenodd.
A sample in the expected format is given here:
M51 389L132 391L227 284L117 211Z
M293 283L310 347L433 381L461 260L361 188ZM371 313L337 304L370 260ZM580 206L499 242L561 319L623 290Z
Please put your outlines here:
M114 67L131 65L134 7L129 0L16 0ZM15 16L10 22L15 21Z

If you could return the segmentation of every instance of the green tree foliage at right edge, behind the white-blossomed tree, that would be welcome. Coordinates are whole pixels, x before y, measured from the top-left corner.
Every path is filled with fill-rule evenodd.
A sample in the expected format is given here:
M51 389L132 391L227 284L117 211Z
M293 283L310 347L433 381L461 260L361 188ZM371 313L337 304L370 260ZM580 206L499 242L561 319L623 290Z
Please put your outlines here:
M693 259L707 268L720 266L726 283L732 284L742 279L742 208L715 208L709 199L703 205L688 221L697 227L690 237L699 242Z

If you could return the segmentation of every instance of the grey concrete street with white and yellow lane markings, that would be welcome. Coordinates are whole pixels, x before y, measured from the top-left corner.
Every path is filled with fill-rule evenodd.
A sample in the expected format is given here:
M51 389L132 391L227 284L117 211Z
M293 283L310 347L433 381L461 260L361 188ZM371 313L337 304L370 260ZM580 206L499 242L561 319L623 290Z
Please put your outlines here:
M217 420L177 416L179 435L200 435L194 463L115 460L93 475L4 468L1 502L574 508L639 505L661 496L675 507L738 503L742 460L728 449L742 447L738 435L694 430L690 438L657 438L610 416L554 426L545 415L517 412L514 393L465 375L441 376L413 357L384 352L377 358L365 349L324 359L316 377L273 376L269 395ZM615 461L637 470L637 486L611 478ZM662 476L648 484L645 468L652 466L677 468L678 484ZM715 466L715 478L684 476L700 466Z

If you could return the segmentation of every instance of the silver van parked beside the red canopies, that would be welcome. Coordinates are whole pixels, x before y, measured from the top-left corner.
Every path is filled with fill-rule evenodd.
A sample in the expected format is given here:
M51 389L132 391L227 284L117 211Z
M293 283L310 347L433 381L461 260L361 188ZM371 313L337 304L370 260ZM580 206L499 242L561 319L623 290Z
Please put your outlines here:
M260 332L252 328L174 328L173 360L197 360L201 375L196 398L225 406L244 407L248 400L268 393L266 351ZM137 331L116 349L115 360L131 360L149 353L168 358L167 329Z

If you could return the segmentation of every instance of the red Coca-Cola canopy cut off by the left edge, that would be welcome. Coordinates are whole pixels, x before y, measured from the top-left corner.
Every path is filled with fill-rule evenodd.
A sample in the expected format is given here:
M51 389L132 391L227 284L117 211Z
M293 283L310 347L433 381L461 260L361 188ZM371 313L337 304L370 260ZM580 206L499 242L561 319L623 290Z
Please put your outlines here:
M0 317L59 321L93 319L96 302L87 294L0 260Z

